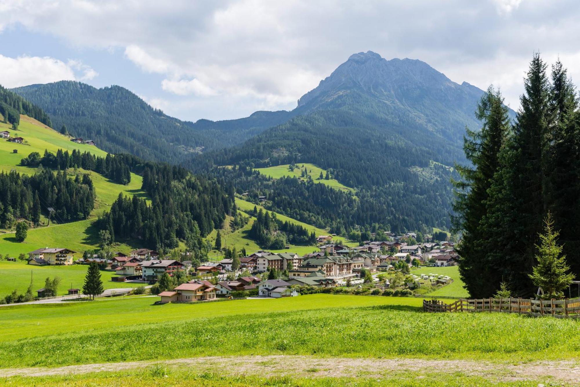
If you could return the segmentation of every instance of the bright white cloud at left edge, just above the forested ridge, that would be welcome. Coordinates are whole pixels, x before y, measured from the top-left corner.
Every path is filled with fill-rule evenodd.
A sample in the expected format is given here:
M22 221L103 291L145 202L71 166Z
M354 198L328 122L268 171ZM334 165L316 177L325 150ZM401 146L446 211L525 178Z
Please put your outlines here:
M63 80L92 79L97 72L80 61L64 63L51 57L19 56L10 58L0 55L0 84L19 87L32 83L48 83ZM75 74L81 71L81 76Z

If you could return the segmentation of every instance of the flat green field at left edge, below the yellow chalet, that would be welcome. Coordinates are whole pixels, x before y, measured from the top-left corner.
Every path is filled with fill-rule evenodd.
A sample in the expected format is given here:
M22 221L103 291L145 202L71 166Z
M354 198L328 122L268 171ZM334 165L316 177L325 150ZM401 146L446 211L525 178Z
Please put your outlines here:
M44 287L46 277L50 277L50 279L59 277L61 279L57 295L67 294L67 290L71 289L71 286L75 289L82 289L88 267L88 265L34 266L21 261L0 261L0 297L11 293L14 289L18 290L19 293L24 293L30 285L31 278L32 291L34 292ZM134 283L111 282L111 277L115 277L113 272L101 272L105 289L136 286Z

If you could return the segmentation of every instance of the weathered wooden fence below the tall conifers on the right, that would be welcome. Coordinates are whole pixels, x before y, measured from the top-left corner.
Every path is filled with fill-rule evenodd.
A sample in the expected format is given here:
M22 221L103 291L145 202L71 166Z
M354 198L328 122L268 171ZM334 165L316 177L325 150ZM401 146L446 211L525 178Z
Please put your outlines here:
M500 312L529 316L580 319L580 298L571 300L533 300L531 298L460 298L451 304L423 300L425 312Z

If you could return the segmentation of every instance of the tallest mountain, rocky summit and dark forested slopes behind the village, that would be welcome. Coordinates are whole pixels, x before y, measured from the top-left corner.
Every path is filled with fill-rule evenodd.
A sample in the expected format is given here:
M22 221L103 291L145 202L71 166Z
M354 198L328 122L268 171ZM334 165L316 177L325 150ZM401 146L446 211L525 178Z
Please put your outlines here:
M212 170L238 190L267 195L270 209L336 233L371 224L394 231L448 229L452 166L465 160L465 126L480 127L474 112L483 93L422 61L358 53L300 98L288 122L186 165ZM251 172L293 163L331 171L357 189L357 200ZM239 168L215 168L223 165Z

